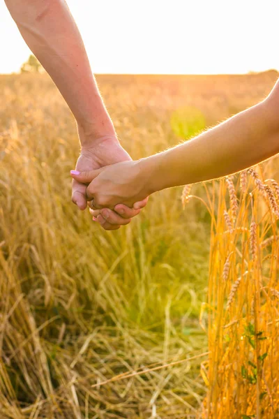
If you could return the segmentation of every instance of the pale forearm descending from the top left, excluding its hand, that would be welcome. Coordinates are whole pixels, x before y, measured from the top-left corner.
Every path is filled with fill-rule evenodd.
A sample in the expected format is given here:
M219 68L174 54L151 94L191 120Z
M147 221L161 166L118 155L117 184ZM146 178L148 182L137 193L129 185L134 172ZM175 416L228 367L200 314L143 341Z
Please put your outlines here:
M114 135L84 44L63 0L6 0L17 27L90 138ZM84 137L85 138L85 137Z

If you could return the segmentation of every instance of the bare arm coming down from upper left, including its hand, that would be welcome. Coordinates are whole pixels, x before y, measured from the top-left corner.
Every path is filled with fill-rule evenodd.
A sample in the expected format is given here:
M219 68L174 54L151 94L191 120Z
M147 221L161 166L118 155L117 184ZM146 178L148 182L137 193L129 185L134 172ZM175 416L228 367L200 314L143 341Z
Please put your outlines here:
M81 144L77 170L94 170L131 160L116 136L66 1L5 1L24 41L54 80L77 121ZM73 203L85 210L86 186L75 179L72 192ZM102 217L103 228L114 230L130 222L146 203L147 199L142 200L137 210L117 206L110 212L110 221Z

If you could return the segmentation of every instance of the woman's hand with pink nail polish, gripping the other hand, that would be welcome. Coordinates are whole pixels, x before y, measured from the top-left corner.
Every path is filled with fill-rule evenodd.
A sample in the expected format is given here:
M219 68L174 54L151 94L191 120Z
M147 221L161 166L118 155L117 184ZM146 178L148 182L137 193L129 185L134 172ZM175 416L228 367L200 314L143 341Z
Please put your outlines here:
M134 210L139 201L145 202L149 195L148 179L142 168L142 161L123 161L98 170L72 172L73 179L89 184L87 199L93 200L93 207L114 209L124 204Z

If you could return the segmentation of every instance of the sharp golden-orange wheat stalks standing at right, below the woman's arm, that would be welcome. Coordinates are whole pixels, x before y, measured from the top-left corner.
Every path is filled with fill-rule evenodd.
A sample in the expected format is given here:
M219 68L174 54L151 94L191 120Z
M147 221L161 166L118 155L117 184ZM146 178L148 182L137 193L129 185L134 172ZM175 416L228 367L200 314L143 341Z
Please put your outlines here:
M278 182L268 179L274 162L216 182L203 418L279 416L279 195Z

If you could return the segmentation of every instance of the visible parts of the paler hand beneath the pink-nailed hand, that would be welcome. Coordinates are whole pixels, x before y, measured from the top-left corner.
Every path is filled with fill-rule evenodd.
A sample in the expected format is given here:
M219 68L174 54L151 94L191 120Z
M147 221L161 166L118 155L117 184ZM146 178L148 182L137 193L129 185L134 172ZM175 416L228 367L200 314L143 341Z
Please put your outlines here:
M82 147L80 156L77 159L76 170L94 170L112 163L127 160L130 160L129 154L121 147L117 138L112 135L94 140ZM80 210L85 210L87 207L86 184L73 179L72 189L73 203ZM146 203L147 200L137 203L137 209L131 209L125 205L116 205L114 211L107 210L107 214L103 210L104 216L100 214L98 221L105 230L116 230L121 225L130 223L130 219L139 214L140 208L143 208Z

